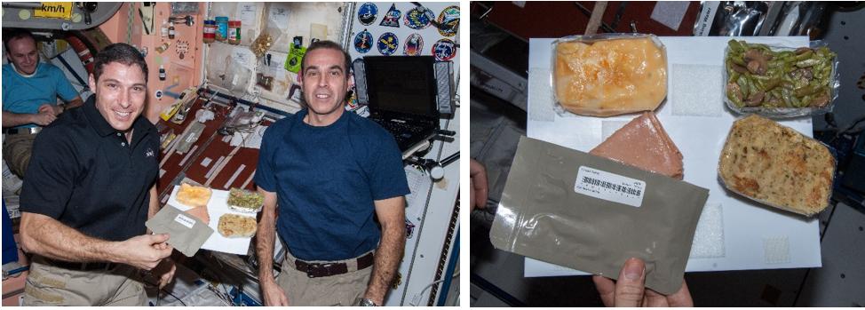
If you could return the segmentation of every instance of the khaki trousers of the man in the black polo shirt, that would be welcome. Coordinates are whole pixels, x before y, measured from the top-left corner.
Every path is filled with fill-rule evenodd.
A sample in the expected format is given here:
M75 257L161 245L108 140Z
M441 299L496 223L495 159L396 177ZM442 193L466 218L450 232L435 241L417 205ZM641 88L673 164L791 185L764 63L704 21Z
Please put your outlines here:
M147 306L137 268L69 270L35 256L24 285L24 306Z

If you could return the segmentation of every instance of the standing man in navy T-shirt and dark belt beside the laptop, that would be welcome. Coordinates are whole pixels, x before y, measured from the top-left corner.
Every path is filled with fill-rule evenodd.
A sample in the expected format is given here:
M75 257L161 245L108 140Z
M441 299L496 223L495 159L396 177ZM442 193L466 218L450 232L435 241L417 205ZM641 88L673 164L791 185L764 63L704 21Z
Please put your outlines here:
M306 108L262 139L255 182L265 195L257 250L266 306L381 306L400 265L409 194L401 152L377 123L345 111L350 65L339 44L310 44L298 73ZM287 254L274 279L276 235Z

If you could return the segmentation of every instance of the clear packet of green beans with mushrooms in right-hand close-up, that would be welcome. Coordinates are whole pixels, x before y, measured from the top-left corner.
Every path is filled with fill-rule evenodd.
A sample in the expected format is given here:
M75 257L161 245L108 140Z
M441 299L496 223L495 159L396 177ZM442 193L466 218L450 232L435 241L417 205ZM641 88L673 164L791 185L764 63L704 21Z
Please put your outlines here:
M731 110L766 117L823 114L837 99L837 54L822 41L807 47L732 39L724 58L724 101Z

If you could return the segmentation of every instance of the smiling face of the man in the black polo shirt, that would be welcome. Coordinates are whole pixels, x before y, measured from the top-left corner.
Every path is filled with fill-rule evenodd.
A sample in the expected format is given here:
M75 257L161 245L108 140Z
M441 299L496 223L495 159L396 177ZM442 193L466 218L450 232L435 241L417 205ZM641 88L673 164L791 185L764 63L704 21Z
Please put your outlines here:
M96 95L96 109L117 131L131 139L132 123L144 111L147 79L137 65L108 63L99 81L90 76L90 88Z

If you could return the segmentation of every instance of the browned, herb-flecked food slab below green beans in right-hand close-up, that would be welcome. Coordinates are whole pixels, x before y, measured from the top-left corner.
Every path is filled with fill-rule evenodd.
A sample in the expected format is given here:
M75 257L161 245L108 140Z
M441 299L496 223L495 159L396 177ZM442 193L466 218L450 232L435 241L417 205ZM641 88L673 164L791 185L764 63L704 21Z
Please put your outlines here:
M772 120L733 123L718 160L726 187L760 202L812 215L829 206L835 158L829 148Z

